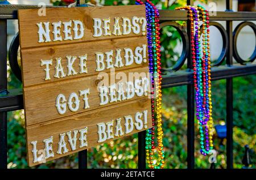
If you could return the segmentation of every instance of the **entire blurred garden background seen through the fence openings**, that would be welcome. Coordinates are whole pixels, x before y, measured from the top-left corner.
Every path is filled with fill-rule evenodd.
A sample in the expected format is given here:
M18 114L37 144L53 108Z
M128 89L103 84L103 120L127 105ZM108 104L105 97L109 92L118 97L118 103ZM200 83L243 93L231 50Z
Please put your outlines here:
M38 5L44 2L47 5L65 6L61 0L10 0L12 4ZM135 1L129 0L98 0L85 1L94 5L118 6L134 5ZM171 9L185 6L185 0L160 0L152 1L159 9ZM225 0L196 1L208 10L225 11ZM255 11L255 1L233 1L233 11ZM183 22L178 22L183 24ZM225 22L220 22L224 28ZM240 22L234 22L234 28ZM254 22L255 23L255 22ZM184 24L183 24L184 25ZM16 20L8 21L9 45L16 32ZM182 41L175 28L162 29L162 65L169 68L175 65L180 57ZM245 27L238 36L237 49L243 59L247 59L255 48L255 35L253 29ZM222 37L217 28L210 27L210 50L212 59L217 59L222 49ZM9 89L22 88L22 84L15 78L8 65ZM182 67L186 68L186 65ZM234 91L234 168L243 168L242 159L245 154L245 145L250 148L250 168L256 164L256 75L233 79ZM225 127L226 118L226 84L225 80L214 81L212 85L213 119L214 125ZM163 89L163 130L164 150L166 151L165 168L187 168L187 88L175 87ZM208 156L201 156L199 149L198 126L195 121L195 167L209 168ZM217 151L216 168L226 168L226 139L214 132L214 148ZM138 162L138 137L137 134L113 142L98 145L88 149L88 168L137 168ZM8 168L29 168L26 161L26 136L24 130L24 112L18 110L8 113ZM33 168L78 168L77 154L66 156L58 160L47 162Z

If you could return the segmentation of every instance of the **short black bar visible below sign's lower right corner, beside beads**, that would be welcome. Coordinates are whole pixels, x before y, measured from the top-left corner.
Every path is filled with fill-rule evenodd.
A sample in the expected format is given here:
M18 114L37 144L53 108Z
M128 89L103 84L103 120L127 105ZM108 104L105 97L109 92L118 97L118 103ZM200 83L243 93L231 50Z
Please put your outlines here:
M138 133L138 169L146 169L146 131Z

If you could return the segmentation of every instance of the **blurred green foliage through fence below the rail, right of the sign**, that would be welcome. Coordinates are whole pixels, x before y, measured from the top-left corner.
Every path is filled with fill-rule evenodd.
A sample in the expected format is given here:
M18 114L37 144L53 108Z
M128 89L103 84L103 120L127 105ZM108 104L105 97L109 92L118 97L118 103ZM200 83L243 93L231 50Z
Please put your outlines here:
M256 75L250 75L245 77L239 77L233 79L233 93L234 93L234 128L233 128L233 139L234 139L234 168L242 168L242 158L245 152L244 146L246 144L251 148L250 157L252 167L255 168L256 160L256 122L255 122L255 101L256 101L256 85L255 85ZM212 87L212 100L213 100L213 119L214 125L224 124L226 119L226 80L218 80L213 82ZM179 123L171 123L167 125L169 121L183 121L183 127L181 127L181 134L186 134L187 126L187 112L186 112L186 87L175 87L170 89L163 89L163 117L165 128L176 126L179 127ZM168 98L169 97L169 98ZM165 114L168 110L170 115ZM176 117L175 114L180 114L180 117ZM184 118L184 119L183 119ZM166 122L167 121L167 122ZM195 127L197 123L195 122ZM164 128L165 134L169 131ZM196 128L196 130L198 127ZM171 135L171 136L170 136ZM170 139L174 140L174 136L179 136L180 132L177 130L172 134L168 135ZM195 142L195 165L197 168L209 168L208 158L200 155L199 149L200 144L197 137L198 131L196 131L196 142ZM177 147L180 146L180 142L187 142L187 137L181 139L179 142L175 142ZM165 145L168 145L165 144ZM220 145L220 139L217 138L216 133L214 133L214 145L215 149L218 151L216 168L226 168L226 141L224 140L224 145ZM186 148L186 144L183 145ZM181 149L179 150L181 151ZM172 151L174 152L174 151ZM176 154L176 152L175 152ZM168 156L167 156L168 157ZM174 161L174 159L170 161ZM174 162L172 162L174 163ZM181 160L177 161L182 163ZM174 168L174 166L172 166Z

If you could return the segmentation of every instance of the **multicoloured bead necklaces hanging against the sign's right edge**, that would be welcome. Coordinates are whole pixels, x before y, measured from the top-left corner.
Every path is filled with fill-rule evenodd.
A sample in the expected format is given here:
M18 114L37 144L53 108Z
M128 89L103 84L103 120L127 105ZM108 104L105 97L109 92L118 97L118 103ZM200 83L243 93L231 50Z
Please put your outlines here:
M146 160L149 168L164 168L164 151L163 151L163 128L162 128L162 75L160 63L160 32L159 32L159 12L152 2L146 0L136 1L137 5L146 6L147 19L147 40L148 40L148 61L151 74L152 90L155 88L156 102L151 98L152 109L152 128L146 131ZM154 95L154 92L151 92ZM156 105L156 108L155 108ZM156 114L156 118L155 118ZM155 123L156 122L156 123ZM158 160L154 162L155 150L155 128L157 130L157 151Z

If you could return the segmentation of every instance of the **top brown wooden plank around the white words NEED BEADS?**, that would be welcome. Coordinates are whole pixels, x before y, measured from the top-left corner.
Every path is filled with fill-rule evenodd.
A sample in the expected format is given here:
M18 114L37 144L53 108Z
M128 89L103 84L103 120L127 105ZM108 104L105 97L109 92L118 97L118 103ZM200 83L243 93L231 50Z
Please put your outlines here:
M72 12L71 12L72 11ZM49 46L57 44L70 44L71 42L86 42L86 41L98 41L98 40L110 40L113 38L126 38L142 36L142 31L139 34L130 33L129 35L121 36L101 36L93 37L93 18L108 19L110 18L110 31L113 32L114 18L119 18L119 24L122 29L122 17L129 18L130 20L137 16L138 18L145 17L144 6L107 6L107 7L77 7L77 8L47 8L45 16L39 16L38 10L19 10L19 29L20 29L20 46L21 48L31 48L38 46ZM84 37L79 40L67 40L67 41L51 41L45 43L39 43L38 40L38 26L36 23L49 22L50 24L56 22L69 22L69 20L80 20L84 24ZM140 24L142 28L143 22ZM103 24L102 24L103 27ZM50 32L52 32L52 25L49 26ZM72 27L73 29L73 27ZM64 27L61 27L61 35L63 36ZM72 37L74 32L72 32ZM51 40L53 39L53 33L51 34ZM146 35L146 33L143 33Z

